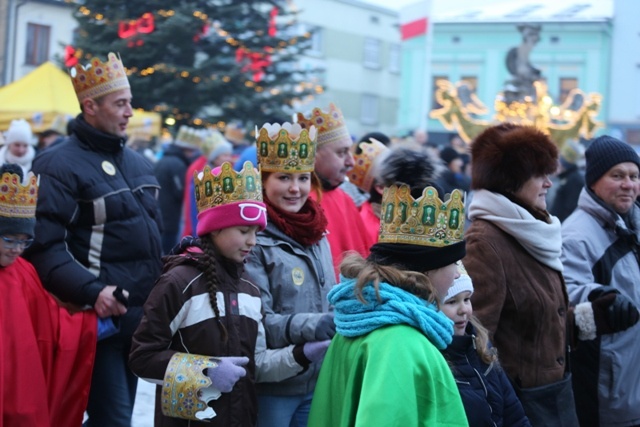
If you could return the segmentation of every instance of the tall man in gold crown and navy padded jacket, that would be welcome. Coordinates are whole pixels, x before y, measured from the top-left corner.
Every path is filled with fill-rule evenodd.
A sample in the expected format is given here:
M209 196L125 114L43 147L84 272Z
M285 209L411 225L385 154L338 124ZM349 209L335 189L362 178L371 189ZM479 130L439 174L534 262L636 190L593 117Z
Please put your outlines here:
M159 185L151 164L125 146L133 110L122 61L109 53L70 73L82 113L73 134L34 162L42 186L27 256L59 299L119 324L97 344L85 425L129 427L131 335L161 269Z

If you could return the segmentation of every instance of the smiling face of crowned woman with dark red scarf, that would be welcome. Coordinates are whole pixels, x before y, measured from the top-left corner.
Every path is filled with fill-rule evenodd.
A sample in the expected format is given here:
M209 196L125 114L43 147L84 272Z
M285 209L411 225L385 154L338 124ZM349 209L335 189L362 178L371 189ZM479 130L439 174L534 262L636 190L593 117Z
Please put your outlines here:
M278 208L296 213L306 203L311 191L311 173L274 172L264 182L267 198Z

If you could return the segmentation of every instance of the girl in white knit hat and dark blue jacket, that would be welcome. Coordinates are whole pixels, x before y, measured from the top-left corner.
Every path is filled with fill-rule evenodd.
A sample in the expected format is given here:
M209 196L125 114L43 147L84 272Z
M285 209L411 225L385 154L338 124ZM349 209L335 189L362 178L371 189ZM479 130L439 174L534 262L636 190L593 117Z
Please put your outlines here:
M442 312L454 322L453 341L443 351L456 378L469 427L531 426L522 404L498 363L489 332L473 316L473 283L464 266L442 300Z

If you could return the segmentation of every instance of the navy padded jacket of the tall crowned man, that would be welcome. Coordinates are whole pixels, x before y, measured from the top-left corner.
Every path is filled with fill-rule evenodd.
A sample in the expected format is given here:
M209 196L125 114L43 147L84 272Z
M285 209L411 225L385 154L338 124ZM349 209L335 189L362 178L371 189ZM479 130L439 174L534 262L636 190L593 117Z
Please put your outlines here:
M123 332L133 333L160 276L158 181L123 138L76 119L74 134L33 163L40 176L33 246L25 256L45 288L93 306L107 285L129 291Z

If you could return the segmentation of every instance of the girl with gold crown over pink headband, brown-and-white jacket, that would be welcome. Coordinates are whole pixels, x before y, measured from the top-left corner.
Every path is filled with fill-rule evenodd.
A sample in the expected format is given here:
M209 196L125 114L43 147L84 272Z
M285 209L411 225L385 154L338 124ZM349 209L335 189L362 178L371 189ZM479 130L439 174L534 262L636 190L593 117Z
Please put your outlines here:
M194 176L199 239L165 266L133 336L130 366L158 384L155 426L255 425L255 381L303 371L303 345L267 350L258 288L244 261L267 225L260 174L230 163ZM187 421L188 420L188 421Z

